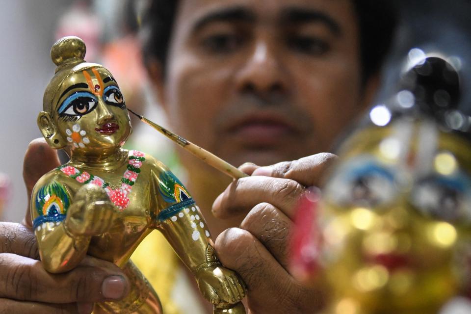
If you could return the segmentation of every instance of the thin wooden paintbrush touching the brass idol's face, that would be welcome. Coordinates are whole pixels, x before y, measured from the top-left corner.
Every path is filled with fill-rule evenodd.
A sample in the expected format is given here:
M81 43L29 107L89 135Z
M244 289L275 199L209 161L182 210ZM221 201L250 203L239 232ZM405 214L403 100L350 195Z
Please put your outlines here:
M227 174L230 177L233 177L234 179L240 179L244 177L248 177L246 173L243 173L239 169L235 168L233 165L231 165L229 162L224 161L223 159L217 157L216 155L209 153L207 150L199 147L198 145L193 144L192 142L184 139L182 136L175 134L174 132L168 131L165 128L162 128L159 126L157 123L154 123L145 117L141 116L140 114L135 113L131 109L128 108L128 111L130 111L132 114L134 114L136 117L138 117L142 122L148 124L152 128L156 129L163 135L167 136L170 138L172 141L177 143L178 145L182 146L185 150L190 152L191 154L195 155L196 157L200 158L210 166L216 168L217 170Z

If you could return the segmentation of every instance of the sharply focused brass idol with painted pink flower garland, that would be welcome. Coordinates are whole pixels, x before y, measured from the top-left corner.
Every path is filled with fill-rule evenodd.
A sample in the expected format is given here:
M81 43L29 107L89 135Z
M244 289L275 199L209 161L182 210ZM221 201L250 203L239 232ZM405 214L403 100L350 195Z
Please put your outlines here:
M124 269L131 291L121 301L95 304L93 313L161 313L154 289L129 260L157 229L214 313L245 313L244 284L217 259L206 222L183 184L154 157L122 149L132 130L123 95L108 70L84 60L85 52L78 37L53 44L57 69L37 119L48 144L70 156L36 183L31 197L44 267L66 272L87 254L113 262Z

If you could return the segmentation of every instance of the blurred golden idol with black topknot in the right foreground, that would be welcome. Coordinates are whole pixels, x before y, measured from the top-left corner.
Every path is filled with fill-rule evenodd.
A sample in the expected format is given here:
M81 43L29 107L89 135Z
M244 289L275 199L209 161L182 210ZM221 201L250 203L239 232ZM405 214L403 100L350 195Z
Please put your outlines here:
M422 54L341 146L301 248L327 314L470 313L471 107L448 58Z

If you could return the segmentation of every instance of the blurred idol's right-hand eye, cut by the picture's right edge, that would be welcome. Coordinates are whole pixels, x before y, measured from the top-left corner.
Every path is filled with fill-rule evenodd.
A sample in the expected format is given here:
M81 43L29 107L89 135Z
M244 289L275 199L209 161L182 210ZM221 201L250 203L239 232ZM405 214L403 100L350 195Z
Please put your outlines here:
M471 222L471 179L432 175L420 179L410 202L426 216L447 221Z

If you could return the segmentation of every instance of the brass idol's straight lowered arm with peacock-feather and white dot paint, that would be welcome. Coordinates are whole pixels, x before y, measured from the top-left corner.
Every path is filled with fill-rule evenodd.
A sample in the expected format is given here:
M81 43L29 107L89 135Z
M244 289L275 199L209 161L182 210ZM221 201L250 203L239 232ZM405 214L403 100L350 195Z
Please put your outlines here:
M160 209L154 217L156 227L194 274L203 296L216 308L230 308L245 296L241 279L217 259L206 222L178 179L169 171L157 179L151 188L152 195L160 196L154 204ZM242 308L234 313L245 312Z

